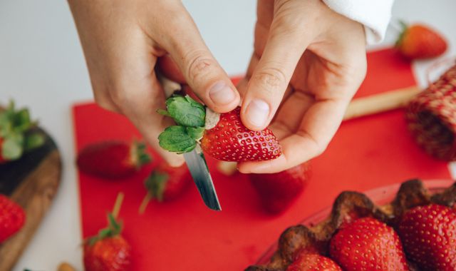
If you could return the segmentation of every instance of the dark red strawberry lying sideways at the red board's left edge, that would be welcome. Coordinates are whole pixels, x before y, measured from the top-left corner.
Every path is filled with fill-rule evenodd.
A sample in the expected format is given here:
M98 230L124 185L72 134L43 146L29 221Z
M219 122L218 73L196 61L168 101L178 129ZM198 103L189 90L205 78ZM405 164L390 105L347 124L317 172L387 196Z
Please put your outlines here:
M145 153L145 145L136 141L93 143L83 148L77 159L83 173L108 179L130 177L148 162L150 156Z

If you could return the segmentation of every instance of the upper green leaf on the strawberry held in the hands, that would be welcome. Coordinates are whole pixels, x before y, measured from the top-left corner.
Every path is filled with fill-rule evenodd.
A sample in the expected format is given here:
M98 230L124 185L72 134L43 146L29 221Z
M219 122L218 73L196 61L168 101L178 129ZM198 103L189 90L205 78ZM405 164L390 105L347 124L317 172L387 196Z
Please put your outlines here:
M204 127L206 109L190 96L172 96L166 100L167 116L180 126Z

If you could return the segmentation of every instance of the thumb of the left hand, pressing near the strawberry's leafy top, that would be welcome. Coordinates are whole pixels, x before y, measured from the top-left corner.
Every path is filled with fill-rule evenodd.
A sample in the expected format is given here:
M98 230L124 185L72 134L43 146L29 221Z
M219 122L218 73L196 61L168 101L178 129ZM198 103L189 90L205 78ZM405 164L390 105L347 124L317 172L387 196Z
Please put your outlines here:
M232 111L239 103L239 93L219 63L209 52L190 15L182 7L178 19L167 26L170 33L162 46L170 53L188 85L212 110Z

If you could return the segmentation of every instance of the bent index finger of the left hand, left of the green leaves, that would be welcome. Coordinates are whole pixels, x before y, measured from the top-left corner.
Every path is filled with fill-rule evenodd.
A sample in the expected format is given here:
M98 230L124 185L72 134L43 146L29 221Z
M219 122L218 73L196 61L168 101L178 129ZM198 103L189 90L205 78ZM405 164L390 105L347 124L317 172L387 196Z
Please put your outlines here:
M165 95L155 76L155 56L142 37L135 35L115 50L118 57L108 73L111 98L167 163L182 165L182 155L163 150L158 144L158 135L172 125L172 120L156 113L165 105Z

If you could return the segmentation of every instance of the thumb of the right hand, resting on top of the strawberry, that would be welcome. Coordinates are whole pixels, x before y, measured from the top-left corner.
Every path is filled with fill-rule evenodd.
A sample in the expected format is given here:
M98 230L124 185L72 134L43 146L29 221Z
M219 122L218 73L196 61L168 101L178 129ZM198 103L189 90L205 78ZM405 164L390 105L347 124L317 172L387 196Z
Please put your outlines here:
M254 131L269 125L299 58L311 42L311 36L301 31L301 26L289 26L280 18L272 21L266 47L242 101L242 123Z

